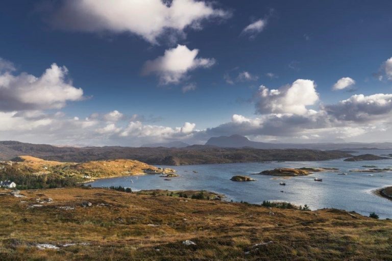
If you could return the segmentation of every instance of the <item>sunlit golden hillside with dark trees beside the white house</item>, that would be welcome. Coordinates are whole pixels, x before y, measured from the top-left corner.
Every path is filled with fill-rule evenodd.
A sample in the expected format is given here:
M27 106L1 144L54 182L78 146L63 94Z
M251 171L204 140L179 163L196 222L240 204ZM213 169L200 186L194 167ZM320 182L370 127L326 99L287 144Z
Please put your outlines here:
M58 188L97 178L141 175L144 170L163 174L174 171L134 160L71 163L18 156L13 161L0 162L0 180L12 180L19 189Z

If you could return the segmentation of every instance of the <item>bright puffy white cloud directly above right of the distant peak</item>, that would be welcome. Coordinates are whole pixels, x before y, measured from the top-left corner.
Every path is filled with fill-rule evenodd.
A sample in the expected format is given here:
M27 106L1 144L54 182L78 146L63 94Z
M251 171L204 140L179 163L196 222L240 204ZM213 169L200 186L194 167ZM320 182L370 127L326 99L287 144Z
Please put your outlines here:
M299 79L291 85L283 86L277 90L269 90L261 85L255 96L256 112L305 114L307 106L314 105L318 100L316 85L311 80Z

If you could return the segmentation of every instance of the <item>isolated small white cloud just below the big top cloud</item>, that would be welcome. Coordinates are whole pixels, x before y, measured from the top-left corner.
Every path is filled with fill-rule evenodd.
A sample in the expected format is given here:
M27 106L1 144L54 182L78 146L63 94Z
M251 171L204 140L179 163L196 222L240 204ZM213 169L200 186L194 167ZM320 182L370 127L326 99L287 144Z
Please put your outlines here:
M196 58L199 50L190 50L186 45L165 50L163 56L152 61L146 61L143 74L156 73L161 84L178 84L186 79L187 72L197 68L209 68L214 65L214 59Z

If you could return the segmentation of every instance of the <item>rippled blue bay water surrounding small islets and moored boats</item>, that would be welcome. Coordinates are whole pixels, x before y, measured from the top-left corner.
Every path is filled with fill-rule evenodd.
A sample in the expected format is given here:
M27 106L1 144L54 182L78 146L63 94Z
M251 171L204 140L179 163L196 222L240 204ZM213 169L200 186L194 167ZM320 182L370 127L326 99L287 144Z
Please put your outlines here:
M353 154L389 154L390 150L364 150ZM372 191L385 186L392 186L392 172L364 173L348 172L362 168L362 165L374 165L379 168L392 167L391 160L345 162L343 160L321 162L271 162L271 163L234 163L176 166L179 177L165 181L159 175L142 175L101 179L91 182L93 187L122 186L132 190L209 190L223 193L228 200L261 203L263 200L288 201L294 204L307 204L312 210L324 207L355 211L368 216L376 212L380 218L392 218L392 201L375 196ZM233 175L250 175L263 170L278 167L334 167L338 172L316 172L309 176L284 179L286 186L280 186L282 177L252 175L257 181L235 182ZM363 169L363 168L362 168ZM193 173L192 171L198 171ZM337 175L347 172L348 175ZM369 176L373 174L374 176ZM314 181L322 178L323 182ZM133 183L132 181L133 180ZM283 193L281 191L284 191Z

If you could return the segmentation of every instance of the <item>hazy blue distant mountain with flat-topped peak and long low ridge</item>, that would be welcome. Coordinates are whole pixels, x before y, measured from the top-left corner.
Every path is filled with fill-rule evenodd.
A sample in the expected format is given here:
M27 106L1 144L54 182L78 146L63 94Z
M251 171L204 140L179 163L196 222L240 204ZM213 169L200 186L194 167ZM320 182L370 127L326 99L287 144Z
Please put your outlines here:
M251 147L257 149L374 149L374 148L392 148L391 142L384 143L267 143L250 141L247 137L241 135L212 137L206 145L217 146L221 148L243 148Z

